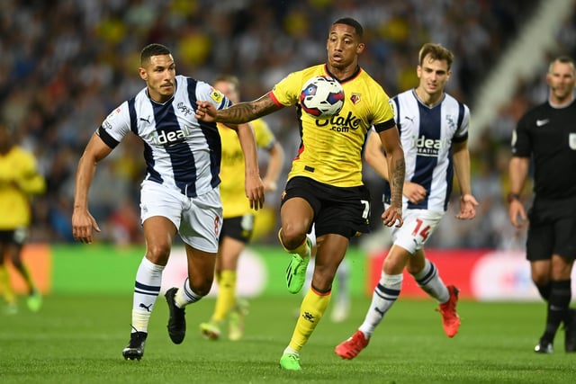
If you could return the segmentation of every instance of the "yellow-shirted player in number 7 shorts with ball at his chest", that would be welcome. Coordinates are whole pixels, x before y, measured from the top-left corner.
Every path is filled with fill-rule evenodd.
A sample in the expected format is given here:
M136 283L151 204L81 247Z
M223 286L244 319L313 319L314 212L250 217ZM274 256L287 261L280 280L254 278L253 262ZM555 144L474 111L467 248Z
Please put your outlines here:
M300 352L326 312L338 265L347 253L350 238L370 229L370 192L362 182L362 150L374 125L388 154L392 183L391 206L383 212L384 225L402 225L404 154L388 95L365 70L358 57L365 49L364 30L352 18L333 22L326 41L326 64L308 67L284 77L274 88L250 103L217 111L211 103L198 102L196 116L204 121L253 121L284 107L296 106L301 146L288 174L280 216L280 243L291 262L286 284L291 293L302 290L311 256L315 226L318 251L311 288L302 300L293 336L280 358L280 367L302 371ZM344 88L346 102L338 116L317 121L302 111L302 86L313 76L330 76Z

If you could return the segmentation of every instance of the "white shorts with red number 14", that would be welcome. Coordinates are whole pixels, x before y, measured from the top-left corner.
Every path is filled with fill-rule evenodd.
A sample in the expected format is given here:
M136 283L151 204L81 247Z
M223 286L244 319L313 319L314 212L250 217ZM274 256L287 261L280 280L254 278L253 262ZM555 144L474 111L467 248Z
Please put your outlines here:
M434 233L445 212L436 210L403 209L404 224L401 228L392 227L392 241L395 246L401 246L414 255Z

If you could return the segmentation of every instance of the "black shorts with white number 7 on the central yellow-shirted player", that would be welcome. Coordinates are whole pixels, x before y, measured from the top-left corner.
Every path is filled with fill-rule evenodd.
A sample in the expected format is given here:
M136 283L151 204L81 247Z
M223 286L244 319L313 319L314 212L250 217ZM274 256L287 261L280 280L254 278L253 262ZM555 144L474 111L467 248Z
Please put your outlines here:
M337 234L355 237L370 232L370 191L365 185L335 187L308 177L286 183L282 204L294 197L309 202L314 210L316 237Z

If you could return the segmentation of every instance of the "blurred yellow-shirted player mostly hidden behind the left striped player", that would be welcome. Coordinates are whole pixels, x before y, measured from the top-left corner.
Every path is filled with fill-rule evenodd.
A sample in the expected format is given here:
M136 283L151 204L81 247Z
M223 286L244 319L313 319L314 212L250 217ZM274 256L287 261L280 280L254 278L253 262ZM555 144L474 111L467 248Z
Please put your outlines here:
M240 85L236 76L216 77L213 84L232 103L240 101ZM264 192L276 191L276 183L284 165L284 150L276 140L266 121L250 121L254 129L257 147L268 152L268 164ZM220 246L216 256L215 277L218 282L218 296L210 321L202 323L202 335L217 340L220 328L228 318L228 337L239 340L244 333L244 317L247 315L247 301L237 297L238 258L252 237L255 214L250 209L244 193L244 155L238 135L228 127L218 123L222 140L222 160L220 164L220 196L223 218L220 232Z

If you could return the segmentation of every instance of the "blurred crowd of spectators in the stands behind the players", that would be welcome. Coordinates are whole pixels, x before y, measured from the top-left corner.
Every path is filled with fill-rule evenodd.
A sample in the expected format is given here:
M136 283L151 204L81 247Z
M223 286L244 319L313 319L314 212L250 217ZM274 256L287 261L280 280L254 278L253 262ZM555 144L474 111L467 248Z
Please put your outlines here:
M48 193L34 200L31 241L71 242L74 175L88 138L103 118L144 86L139 50L161 42L173 50L176 72L211 82L231 73L242 97L264 94L288 72L326 58L329 24L352 16L365 27L361 65L390 95L417 85L423 42L455 52L447 87L472 106L490 73L537 0L13 0L0 13L0 113L17 128L19 142L37 156ZM562 53L576 54L576 22L559 28ZM555 55L560 52L551 52ZM543 63L545 66L547 63ZM504 201L509 138L518 117L545 100L545 67L520 85L500 108L498 122L471 148L473 192L481 201L471 223L442 221L430 240L437 247L510 247L522 235L509 225ZM495 106L496 108L497 106ZM266 121L287 154L299 144L293 111ZM474 111L472 111L472 115ZM473 121L472 121L472 128ZM262 165L266 166L265 163ZM101 241L140 242L139 139L128 138L98 167L90 210ZM373 191L373 224L379 227L382 181L365 170ZM278 196L267 197L277 210ZM274 233L275 228L270 228ZM275 236L269 237L275 242ZM266 237L262 241L267 241Z

